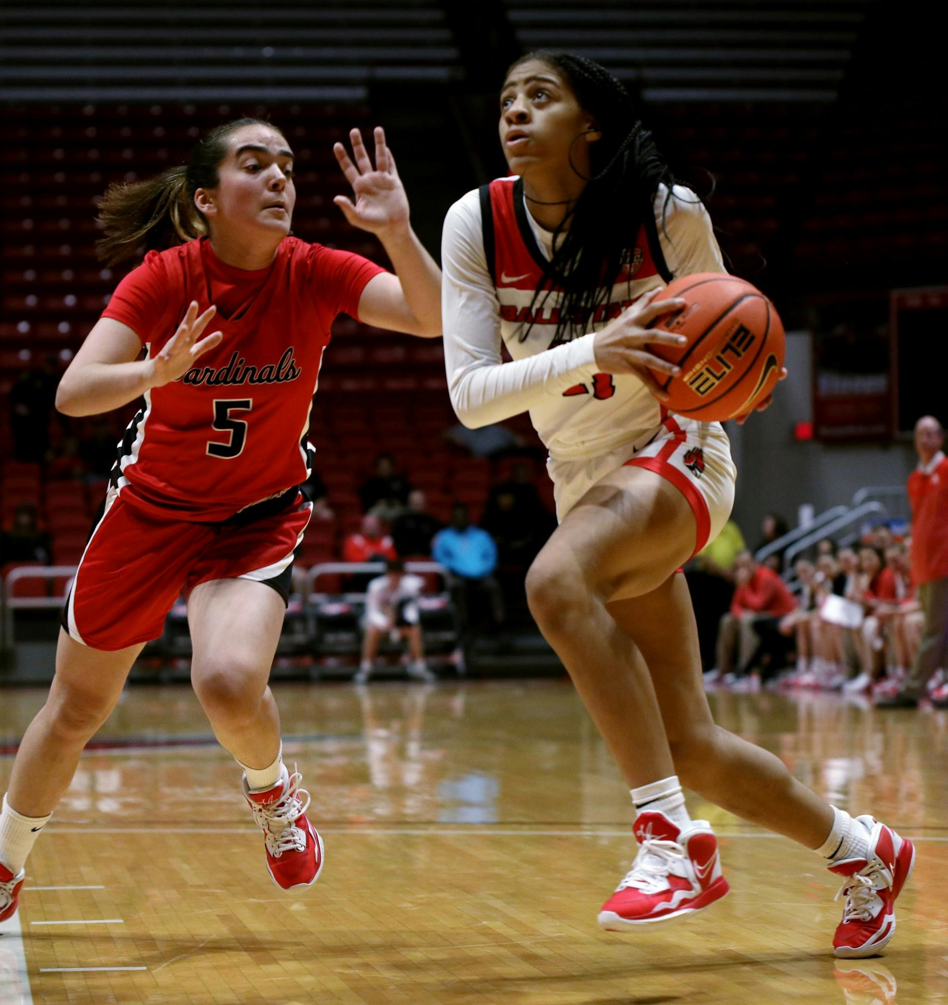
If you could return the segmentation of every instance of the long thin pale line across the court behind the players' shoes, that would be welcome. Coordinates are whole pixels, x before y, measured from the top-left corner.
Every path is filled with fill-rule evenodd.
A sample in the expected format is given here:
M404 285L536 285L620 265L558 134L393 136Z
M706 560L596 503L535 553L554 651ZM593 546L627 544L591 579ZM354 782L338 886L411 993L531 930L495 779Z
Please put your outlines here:
M47 834L256 834L256 827L46 827ZM489 825L475 825L466 830L422 827L319 827L320 834L340 834L346 837L360 834L367 837L631 837L632 828L624 830L528 830L500 829ZM782 837L769 831L716 832L719 838L752 838L770 840ZM948 841L948 835L903 834L910 841ZM789 838L787 838L789 840Z

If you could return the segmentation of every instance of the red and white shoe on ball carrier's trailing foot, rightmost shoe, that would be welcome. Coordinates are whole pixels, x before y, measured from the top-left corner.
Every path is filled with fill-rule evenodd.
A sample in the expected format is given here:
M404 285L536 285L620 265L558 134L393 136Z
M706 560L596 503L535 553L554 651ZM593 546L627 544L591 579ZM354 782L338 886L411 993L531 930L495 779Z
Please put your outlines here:
M865 858L847 858L830 866L846 876L837 898L846 896L843 921L833 939L833 952L844 959L874 956L896 933L896 897L915 865L915 846L871 816L857 822L869 831Z

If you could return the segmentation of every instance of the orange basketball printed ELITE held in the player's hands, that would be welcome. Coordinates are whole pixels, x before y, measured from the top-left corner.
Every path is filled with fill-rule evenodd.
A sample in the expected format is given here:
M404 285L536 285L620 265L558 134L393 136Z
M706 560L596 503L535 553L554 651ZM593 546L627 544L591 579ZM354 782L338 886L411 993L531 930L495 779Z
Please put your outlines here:
M770 300L746 279L698 272L674 279L657 294L686 306L652 328L684 335L688 343L649 346L677 363L677 377L656 374L671 412L702 422L723 422L750 411L773 390L783 368L783 325Z

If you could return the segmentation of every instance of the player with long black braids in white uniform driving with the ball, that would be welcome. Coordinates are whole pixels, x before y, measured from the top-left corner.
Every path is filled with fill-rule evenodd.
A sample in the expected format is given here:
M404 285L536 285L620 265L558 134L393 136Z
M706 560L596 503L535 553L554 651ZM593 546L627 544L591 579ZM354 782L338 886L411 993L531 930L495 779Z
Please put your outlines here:
M666 282L725 271L707 211L675 184L622 83L588 59L515 62L499 129L513 177L469 192L445 221L445 359L465 424L529 410L549 449L560 523L527 598L637 812L638 853L600 925L634 931L727 892L684 784L825 856L845 876L835 952L872 955L892 938L911 842L828 806L772 754L715 726L676 575L723 527L736 477L718 423L662 405L650 371L676 370L647 348L677 338L648 328L684 303L661 299Z

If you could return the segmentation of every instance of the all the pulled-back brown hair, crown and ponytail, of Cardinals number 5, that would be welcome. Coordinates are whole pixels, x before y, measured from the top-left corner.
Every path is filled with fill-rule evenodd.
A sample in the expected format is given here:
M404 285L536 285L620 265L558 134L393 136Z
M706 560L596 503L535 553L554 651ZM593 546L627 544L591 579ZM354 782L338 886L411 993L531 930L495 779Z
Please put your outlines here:
M243 126L269 126L262 119L236 119L212 129L191 152L187 166L169 168L157 178L109 185L98 208L104 237L95 243L99 260L116 265L142 250L162 250L210 232L194 204L199 188L217 188L218 167L227 139Z

